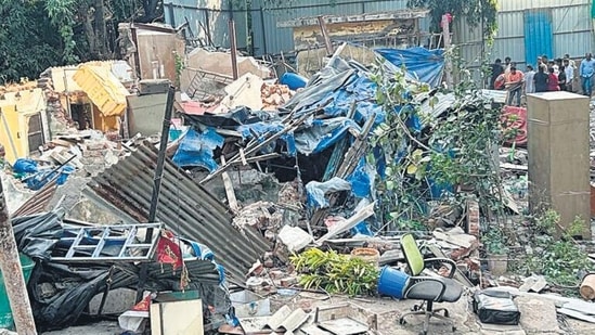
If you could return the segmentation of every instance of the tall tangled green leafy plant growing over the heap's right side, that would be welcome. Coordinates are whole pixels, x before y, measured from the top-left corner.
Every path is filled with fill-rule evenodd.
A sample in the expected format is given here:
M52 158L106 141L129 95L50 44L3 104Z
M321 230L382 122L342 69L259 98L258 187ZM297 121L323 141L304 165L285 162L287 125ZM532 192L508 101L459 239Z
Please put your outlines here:
M448 57L457 68L458 83L452 92L454 103L440 117L422 111L416 99L429 91L426 85L406 80L404 72L388 73L383 66L372 76L377 85L376 100L386 112L371 141L381 151L387 167L385 176L376 180L386 220L425 221L432 188L469 186L475 195L455 193L453 205L463 207L468 196L477 196L488 216L504 208L500 167L493 154L505 139L501 111L491 107L457 52L449 51ZM479 75L488 74L489 64L483 62ZM430 108L440 100L434 92L427 99ZM411 119L423 120L428 131L408 126ZM372 164L378 160L374 154L367 158Z

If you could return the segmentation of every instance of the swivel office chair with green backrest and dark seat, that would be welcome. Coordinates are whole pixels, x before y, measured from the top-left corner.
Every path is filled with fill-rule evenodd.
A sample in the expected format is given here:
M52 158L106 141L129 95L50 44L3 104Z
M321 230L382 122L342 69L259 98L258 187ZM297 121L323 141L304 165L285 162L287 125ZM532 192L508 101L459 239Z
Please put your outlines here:
M405 234L401 237L401 249L412 274L405 287L404 298L421 299L424 302L421 306L415 306L412 312L401 315L399 323L404 324L408 315L419 314L425 315L424 330L421 334L428 333L430 318L451 322L453 324L452 331L456 331L454 322L449 319L449 311L445 308L432 308L434 302L455 302L461 298L463 287L452 279L456 271L456 263L447 258L424 259L412 234ZM419 274L428 263L449 263L451 266L449 278L421 276ZM426 304L426 307L424 307L424 304ZM439 314L440 311L443 311L444 315Z

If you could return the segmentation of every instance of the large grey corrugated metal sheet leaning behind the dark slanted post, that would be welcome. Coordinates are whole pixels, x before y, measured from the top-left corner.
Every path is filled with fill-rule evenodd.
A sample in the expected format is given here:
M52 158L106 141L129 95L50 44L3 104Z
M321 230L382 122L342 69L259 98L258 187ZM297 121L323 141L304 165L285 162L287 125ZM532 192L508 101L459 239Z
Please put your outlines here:
M157 151L141 146L93 178L89 188L126 216L146 222L156 162ZM251 265L270 250L259 232L232 227L228 208L169 159L161 179L157 219L181 236L209 246L216 260L237 279L244 279Z

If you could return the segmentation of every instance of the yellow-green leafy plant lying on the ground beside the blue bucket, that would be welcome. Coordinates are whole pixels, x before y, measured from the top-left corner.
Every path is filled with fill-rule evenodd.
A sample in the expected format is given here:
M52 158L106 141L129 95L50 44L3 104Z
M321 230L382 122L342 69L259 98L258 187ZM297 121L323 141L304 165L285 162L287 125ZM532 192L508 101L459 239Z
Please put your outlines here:
M308 249L293 255L290 261L300 272L299 284L305 288L322 288L328 293L350 296L375 294L378 269L363 259L335 250Z

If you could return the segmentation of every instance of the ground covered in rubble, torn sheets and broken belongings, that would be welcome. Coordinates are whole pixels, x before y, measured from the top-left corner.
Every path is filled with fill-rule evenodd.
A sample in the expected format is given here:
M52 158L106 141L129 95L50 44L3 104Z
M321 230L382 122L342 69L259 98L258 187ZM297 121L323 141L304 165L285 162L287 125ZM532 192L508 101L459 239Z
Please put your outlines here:
M74 92L53 81L64 68L7 91L42 102L51 133L26 155L2 147L38 331L417 334L423 318L399 319L422 275L461 287L438 302L456 334L591 334L594 230L531 208L527 108L441 88L443 50L370 64L341 50L311 78L242 57L233 80L229 53L196 49L179 94L109 62L75 67ZM414 273L411 232L438 266ZM512 321L481 320L490 292Z

